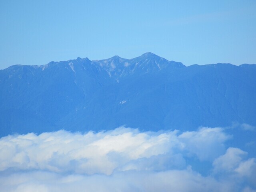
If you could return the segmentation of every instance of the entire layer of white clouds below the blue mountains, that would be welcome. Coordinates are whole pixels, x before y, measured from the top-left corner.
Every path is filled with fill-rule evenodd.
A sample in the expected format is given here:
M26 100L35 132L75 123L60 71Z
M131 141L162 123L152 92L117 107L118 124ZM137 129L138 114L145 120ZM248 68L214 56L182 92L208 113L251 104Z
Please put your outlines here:
M12 135L0 139L3 191L253 191L255 158L222 128ZM191 160L211 164L202 176ZM234 182L234 179L238 182Z

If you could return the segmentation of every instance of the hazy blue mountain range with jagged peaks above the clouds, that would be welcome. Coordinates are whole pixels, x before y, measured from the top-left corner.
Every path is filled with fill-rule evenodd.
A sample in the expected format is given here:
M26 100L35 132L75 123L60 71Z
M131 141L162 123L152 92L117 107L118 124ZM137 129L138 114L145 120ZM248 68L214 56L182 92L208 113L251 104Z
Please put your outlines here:
M256 65L184 66L152 53L0 70L0 136L256 126Z

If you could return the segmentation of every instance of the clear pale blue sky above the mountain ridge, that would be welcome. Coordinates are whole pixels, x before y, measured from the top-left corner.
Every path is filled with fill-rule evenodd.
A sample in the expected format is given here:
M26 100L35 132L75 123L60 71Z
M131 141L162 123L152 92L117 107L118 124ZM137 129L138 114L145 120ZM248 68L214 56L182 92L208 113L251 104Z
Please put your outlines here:
M186 66L252 64L255 10L255 0L2 0L0 69L144 52Z

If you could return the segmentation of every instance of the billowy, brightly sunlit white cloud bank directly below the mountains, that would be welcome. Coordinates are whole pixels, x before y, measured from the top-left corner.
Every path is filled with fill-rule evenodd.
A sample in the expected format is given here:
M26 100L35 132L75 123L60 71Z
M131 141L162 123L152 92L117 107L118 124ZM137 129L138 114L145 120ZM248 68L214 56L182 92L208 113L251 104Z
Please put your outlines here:
M139 132L121 127L86 134L60 130L7 136L0 139L0 170L111 174L115 169L154 170L156 162L162 163L157 167L160 170L184 167L183 153L212 158L221 153L226 139L220 128L201 128L180 135L178 131Z

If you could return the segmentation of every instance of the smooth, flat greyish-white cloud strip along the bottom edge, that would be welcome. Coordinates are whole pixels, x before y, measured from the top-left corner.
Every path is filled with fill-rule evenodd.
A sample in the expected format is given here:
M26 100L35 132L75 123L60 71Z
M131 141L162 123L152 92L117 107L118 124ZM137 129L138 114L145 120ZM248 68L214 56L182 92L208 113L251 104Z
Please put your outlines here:
M2 191L8 192L169 192L169 191L238 191L229 183L223 184L214 178L202 177L190 170L164 172L119 172L111 176L56 174L52 172L22 172L0 176Z

